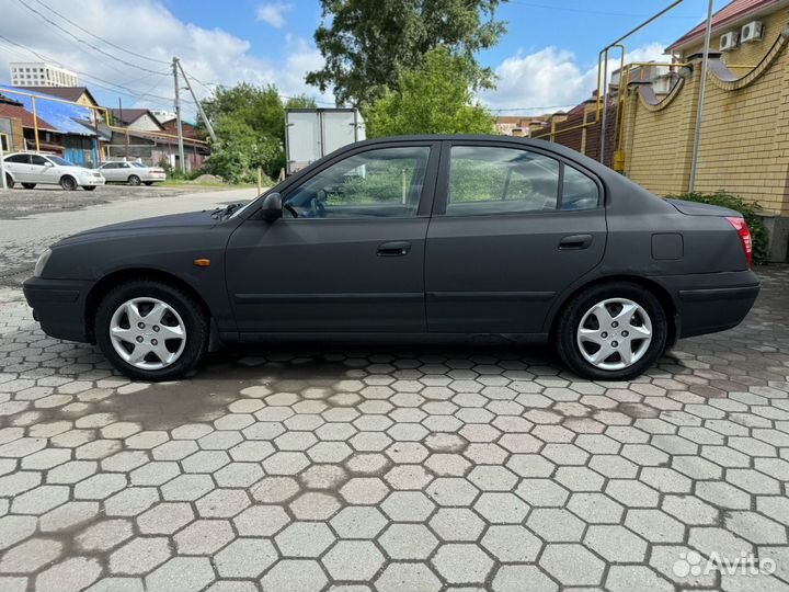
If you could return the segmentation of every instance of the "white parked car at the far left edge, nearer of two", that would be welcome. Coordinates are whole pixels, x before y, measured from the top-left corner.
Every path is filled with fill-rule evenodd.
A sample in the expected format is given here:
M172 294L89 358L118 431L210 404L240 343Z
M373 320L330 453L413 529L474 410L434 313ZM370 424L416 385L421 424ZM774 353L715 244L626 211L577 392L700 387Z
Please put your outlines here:
M9 187L16 183L24 189L36 185L60 185L66 191L82 187L93 191L104 184L99 171L78 167L73 162L55 155L18 152L3 159L5 182Z

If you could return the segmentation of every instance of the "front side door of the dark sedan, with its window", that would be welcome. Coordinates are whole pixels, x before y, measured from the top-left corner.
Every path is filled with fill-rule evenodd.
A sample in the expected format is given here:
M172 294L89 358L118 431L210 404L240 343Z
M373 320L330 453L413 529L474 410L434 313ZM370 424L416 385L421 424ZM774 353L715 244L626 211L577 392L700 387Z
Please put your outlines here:
M243 221L226 258L239 331L424 332L438 146L350 148L282 186L283 218Z

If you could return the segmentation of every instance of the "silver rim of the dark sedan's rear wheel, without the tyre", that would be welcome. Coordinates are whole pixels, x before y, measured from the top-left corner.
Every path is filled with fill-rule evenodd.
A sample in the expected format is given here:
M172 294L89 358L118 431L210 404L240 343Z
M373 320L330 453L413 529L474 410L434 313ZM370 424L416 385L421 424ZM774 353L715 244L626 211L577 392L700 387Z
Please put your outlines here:
M628 368L649 350L652 320L638 303L608 298L592 306L582 317L576 342L581 355L596 368Z

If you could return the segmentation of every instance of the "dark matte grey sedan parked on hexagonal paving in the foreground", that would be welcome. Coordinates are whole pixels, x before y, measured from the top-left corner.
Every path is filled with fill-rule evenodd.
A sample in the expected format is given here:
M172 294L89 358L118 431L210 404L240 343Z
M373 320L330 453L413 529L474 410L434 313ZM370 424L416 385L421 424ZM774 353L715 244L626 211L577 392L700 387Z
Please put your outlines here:
M750 267L736 212L556 144L422 136L347 146L243 206L67 238L24 292L46 333L147 380L229 343L491 335L626 379L742 321Z

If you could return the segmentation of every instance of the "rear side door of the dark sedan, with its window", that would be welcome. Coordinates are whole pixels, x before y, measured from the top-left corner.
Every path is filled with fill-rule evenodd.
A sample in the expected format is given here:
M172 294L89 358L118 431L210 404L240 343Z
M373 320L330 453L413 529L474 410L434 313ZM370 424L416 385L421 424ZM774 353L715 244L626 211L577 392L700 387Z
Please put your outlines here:
M447 143L425 260L427 326L544 333L553 299L602 260L603 185L512 143Z

